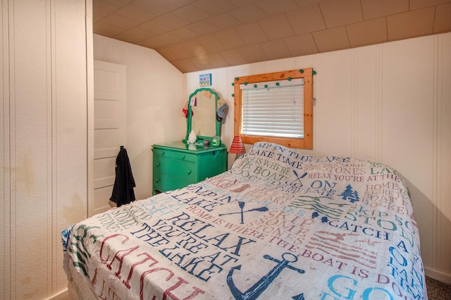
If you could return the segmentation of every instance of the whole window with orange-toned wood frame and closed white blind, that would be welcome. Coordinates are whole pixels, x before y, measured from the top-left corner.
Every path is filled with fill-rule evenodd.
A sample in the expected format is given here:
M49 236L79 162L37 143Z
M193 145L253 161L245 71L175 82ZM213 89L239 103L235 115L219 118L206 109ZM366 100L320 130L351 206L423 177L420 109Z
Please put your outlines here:
M235 78L235 136L313 148L313 69Z

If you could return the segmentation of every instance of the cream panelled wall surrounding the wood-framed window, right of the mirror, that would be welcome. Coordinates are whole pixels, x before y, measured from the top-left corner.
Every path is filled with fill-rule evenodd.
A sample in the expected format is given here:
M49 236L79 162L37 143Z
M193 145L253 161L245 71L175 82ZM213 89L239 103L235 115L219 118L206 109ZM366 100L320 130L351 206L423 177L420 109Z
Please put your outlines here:
M223 141L233 139L233 78L313 67L314 150L389 164L414 202L428 275L451 283L451 33L199 74L230 106ZM230 157L229 158L233 158ZM230 160L229 160L230 164Z

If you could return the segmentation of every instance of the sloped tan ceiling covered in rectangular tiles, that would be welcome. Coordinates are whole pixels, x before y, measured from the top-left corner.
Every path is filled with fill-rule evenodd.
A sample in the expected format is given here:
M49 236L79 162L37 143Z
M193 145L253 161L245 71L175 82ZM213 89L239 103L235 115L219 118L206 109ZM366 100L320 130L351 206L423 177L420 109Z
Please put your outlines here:
M451 31L451 0L93 0L94 33L183 73Z

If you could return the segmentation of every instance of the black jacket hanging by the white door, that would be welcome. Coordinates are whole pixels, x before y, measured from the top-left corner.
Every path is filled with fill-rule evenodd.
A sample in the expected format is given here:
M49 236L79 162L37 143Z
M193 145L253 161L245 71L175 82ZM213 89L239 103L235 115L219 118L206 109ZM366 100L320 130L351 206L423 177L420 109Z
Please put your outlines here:
M110 200L115 202L118 207L135 201L134 187L135 179L133 179L127 150L121 146L118 157L116 157L116 179L114 179L113 193Z

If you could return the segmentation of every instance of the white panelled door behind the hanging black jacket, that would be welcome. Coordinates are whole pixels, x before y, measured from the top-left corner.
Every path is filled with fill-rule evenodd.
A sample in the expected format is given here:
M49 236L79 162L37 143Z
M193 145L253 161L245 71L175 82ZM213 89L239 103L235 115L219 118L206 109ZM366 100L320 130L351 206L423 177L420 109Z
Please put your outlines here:
M116 157L126 140L125 66L94 61L94 197L88 215L108 210Z

